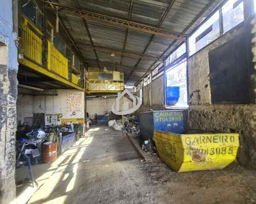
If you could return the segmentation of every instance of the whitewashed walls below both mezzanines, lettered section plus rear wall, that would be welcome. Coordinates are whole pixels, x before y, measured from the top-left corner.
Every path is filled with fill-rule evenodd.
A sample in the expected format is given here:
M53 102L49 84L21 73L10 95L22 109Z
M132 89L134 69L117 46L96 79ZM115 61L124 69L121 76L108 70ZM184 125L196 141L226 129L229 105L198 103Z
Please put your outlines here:
M104 112L111 112L111 107L115 103L116 97L87 98L87 112L89 116L95 114L102 115ZM129 102L129 108L132 102ZM84 118L84 92L79 90L57 90L57 96L29 96L18 95L17 119L21 124L25 117L33 117L33 114L62 114L61 119L65 118ZM75 112L75 115L72 115Z

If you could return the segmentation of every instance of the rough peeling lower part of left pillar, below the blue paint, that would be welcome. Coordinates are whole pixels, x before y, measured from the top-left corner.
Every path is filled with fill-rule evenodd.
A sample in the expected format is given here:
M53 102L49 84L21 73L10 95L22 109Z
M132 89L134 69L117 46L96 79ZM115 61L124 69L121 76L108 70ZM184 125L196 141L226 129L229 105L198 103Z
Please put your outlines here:
M16 196L16 95L16 70L0 64L0 203L14 203Z

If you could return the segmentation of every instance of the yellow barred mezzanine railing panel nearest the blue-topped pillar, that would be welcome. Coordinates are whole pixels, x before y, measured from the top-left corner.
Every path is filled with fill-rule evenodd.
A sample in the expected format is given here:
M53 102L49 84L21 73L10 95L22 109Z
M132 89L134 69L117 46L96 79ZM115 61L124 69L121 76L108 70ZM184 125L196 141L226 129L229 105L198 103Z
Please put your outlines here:
M23 55L29 60L42 65L42 33L23 16L21 45Z

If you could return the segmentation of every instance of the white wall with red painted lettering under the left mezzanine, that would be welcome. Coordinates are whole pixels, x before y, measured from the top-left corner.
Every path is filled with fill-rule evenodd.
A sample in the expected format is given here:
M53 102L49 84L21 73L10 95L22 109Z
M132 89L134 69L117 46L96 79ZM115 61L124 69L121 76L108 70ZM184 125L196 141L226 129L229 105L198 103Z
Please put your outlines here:
M46 92L47 94L47 92ZM57 90L54 95L18 95L17 120L22 124L25 117L33 117L33 114L62 114L65 118L85 118L84 92L80 90ZM73 115L73 112L75 114Z

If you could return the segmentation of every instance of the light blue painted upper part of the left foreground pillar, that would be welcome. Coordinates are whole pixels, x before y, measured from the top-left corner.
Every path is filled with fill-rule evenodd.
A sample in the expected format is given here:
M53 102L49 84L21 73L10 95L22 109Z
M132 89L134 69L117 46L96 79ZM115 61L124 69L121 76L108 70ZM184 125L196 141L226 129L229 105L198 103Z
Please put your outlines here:
M17 33L13 33L12 0L1 0L0 6L0 41L8 46L8 67L18 69L18 48L15 41Z

